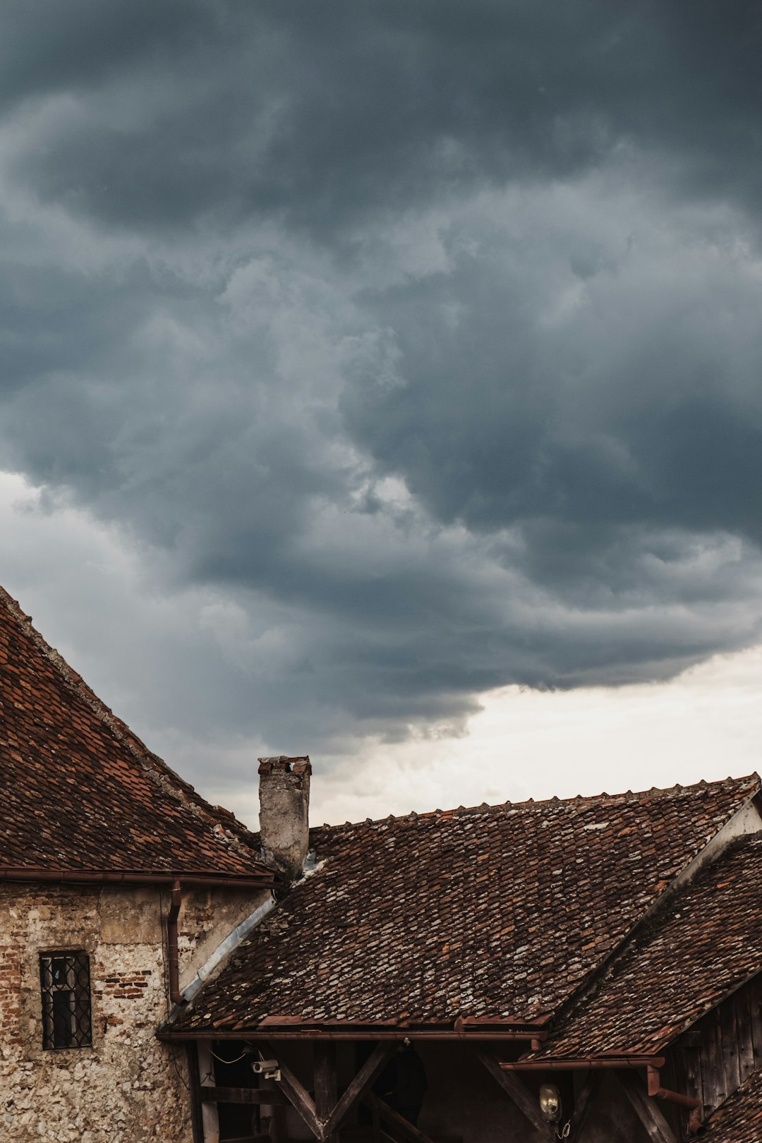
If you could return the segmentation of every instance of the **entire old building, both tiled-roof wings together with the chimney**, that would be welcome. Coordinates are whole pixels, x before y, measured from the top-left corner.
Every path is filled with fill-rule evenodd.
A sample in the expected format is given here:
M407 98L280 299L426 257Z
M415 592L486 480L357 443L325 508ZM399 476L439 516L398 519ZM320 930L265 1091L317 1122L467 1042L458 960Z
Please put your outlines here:
M2 1141L762 1140L756 775L254 834L5 593L0 764Z

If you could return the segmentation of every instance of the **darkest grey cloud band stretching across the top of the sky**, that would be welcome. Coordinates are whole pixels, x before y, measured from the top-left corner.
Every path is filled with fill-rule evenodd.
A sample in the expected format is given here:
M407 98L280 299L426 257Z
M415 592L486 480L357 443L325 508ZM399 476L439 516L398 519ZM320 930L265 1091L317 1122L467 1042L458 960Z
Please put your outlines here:
M47 201L143 227L274 214L331 233L623 143L690 193L760 190L754 5L428 0L11 5L10 105L72 96L21 154ZM676 152L675 152L676 149ZM669 163L666 165L667 167Z

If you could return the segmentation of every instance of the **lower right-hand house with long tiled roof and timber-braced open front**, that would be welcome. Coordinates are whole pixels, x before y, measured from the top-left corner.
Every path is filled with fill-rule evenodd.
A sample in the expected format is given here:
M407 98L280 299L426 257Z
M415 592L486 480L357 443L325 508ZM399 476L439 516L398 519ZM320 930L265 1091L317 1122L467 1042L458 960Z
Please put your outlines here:
M305 832L159 1030L196 1046L198 1140L759 1143L761 831L753 775ZM377 1081L406 1039L415 1125Z

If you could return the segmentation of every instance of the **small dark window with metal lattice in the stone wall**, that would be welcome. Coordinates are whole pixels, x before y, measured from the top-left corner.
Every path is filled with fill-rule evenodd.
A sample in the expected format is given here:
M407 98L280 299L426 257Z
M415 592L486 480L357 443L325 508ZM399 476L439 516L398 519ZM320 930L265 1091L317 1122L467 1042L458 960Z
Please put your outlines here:
M42 1047L89 1048L90 961L86 952L40 954Z

